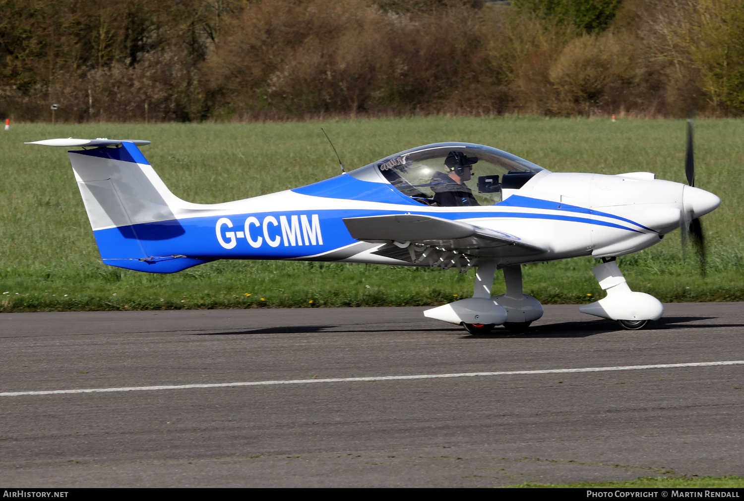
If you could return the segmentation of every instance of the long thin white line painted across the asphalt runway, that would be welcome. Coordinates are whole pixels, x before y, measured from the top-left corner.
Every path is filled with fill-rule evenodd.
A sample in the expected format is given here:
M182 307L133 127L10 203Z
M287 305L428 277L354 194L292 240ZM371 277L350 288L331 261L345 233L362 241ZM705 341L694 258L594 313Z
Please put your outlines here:
M0 397L18 397L22 395L61 395L65 393L105 393L105 392L138 392L155 390L190 390L192 388L226 388L226 387L258 387L271 384L310 384L310 383L348 383L354 381L394 381L398 379L435 379L435 378L466 378L472 376L497 375L530 375L530 374L564 374L567 372L604 372L613 370L639 369L670 369L675 367L707 367L716 365L737 365L744 361L728 362L696 362L696 363L659 363L657 365L629 365L617 367L584 367L583 369L545 369L545 370L514 370L504 372L461 372L458 374L420 374L408 376L371 376L368 378L331 378L331 379L290 379L285 381L246 381L243 383L216 384L174 384L159 387L122 387L122 388L90 388L87 390L50 390L42 392L4 392Z

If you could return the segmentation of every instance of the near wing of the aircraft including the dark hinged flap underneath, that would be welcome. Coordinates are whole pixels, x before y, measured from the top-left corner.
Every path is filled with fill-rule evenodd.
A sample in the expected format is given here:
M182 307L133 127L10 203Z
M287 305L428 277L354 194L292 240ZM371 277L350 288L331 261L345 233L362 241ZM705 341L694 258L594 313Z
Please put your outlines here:
M399 214L347 218L344 224L355 239L388 244L376 254L415 264L433 264L422 261L421 256L427 254L427 248L439 251L438 254L443 250L468 256L524 256L548 250L509 233L434 216Z

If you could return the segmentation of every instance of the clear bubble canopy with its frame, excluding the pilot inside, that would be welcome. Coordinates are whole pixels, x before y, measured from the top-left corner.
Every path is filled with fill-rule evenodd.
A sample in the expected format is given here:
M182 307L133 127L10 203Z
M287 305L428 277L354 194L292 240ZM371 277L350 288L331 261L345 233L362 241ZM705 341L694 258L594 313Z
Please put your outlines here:
M451 174L458 173L452 168L453 155L466 158L465 164L470 164L472 178L464 175L458 179L466 190L472 190L480 205L497 204L501 201L501 187L521 187L533 175L545 170L524 158L490 146L434 143L382 158L350 172L350 175L365 180L382 175L393 187L414 201L436 206L432 186L437 182L441 185L443 176L452 178Z

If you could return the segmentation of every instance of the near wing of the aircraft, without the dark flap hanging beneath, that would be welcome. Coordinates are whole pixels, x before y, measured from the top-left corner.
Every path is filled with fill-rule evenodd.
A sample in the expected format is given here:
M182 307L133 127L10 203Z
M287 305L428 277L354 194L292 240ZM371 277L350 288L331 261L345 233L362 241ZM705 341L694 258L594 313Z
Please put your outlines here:
M418 214L348 218L344 219L344 224L353 238L365 242L417 242L451 250L505 246L546 250L508 233Z

